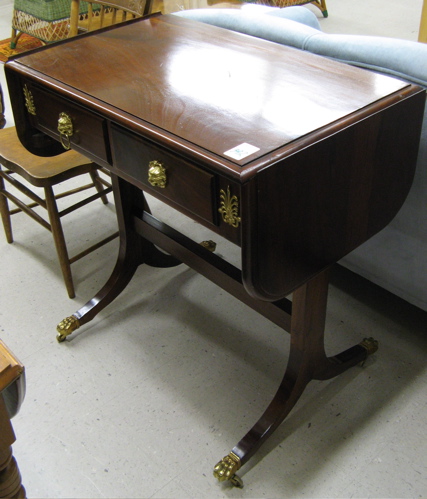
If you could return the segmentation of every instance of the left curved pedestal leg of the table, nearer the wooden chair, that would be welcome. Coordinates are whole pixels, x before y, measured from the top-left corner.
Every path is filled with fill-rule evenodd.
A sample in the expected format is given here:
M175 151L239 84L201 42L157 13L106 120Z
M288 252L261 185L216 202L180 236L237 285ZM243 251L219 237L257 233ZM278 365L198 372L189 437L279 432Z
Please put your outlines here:
M148 204L140 189L112 175L114 198L120 233L120 248L113 273L102 289L73 315L57 326L57 340L63 342L73 331L91 321L109 305L129 284L142 263L157 267L180 264L176 258L161 252L152 243L139 236L133 229L135 212L149 212Z

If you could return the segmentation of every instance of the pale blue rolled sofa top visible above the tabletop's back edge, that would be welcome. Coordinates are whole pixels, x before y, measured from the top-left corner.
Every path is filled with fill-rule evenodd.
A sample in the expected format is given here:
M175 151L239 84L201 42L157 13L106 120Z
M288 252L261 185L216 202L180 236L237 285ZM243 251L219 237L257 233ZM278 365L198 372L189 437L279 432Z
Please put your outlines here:
M195 9L176 13L290 47L307 50L427 87L427 44L395 38L330 35L320 31L316 16L305 7Z

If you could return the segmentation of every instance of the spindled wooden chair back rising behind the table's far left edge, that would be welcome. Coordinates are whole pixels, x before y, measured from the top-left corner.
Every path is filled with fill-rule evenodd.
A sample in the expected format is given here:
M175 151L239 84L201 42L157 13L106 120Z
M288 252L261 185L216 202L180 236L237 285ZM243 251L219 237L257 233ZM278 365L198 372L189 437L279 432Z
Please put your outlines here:
M111 24L142 17L151 13L153 0L87 0L88 14L80 15L80 0L71 0L70 34L103 28Z

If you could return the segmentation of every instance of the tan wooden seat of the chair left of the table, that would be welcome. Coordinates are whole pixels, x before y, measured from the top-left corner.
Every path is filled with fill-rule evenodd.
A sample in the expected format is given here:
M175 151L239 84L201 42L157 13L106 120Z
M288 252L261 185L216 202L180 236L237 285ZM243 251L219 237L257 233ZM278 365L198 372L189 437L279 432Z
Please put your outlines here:
M36 187L57 184L83 173L89 173L94 164L86 157L70 150L52 158L35 156L21 144L15 127L0 130L2 164Z

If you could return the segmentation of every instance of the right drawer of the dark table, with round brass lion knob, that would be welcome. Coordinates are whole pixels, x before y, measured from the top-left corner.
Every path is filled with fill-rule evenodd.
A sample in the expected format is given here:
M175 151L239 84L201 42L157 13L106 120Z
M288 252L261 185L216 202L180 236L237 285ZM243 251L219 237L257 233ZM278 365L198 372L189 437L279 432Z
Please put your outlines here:
M214 175L123 128L111 126L113 167L156 197L217 225Z

